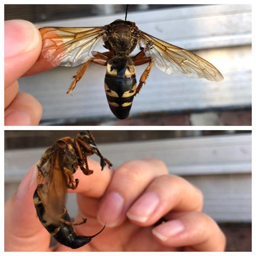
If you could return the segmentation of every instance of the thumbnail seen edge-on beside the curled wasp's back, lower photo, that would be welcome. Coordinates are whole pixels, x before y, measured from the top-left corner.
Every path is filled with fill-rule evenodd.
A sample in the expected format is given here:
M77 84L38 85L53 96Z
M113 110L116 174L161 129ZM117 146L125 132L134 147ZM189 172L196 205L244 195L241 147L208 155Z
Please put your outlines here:
M28 194L28 190L36 183L37 177L37 165L33 165L31 169L25 174L22 179L21 184L19 184L18 191L16 193L16 199L21 200L26 194Z

